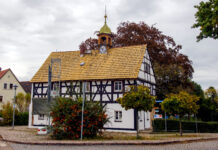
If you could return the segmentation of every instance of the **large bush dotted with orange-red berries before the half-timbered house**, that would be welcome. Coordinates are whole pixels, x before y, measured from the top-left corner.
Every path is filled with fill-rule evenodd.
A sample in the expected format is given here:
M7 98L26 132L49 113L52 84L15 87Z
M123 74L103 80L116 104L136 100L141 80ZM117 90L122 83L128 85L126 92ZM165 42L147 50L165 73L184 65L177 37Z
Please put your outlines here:
M53 132L56 139L78 139L81 130L82 100L56 99L51 108ZM85 102L83 137L97 136L108 121L105 111L97 102Z

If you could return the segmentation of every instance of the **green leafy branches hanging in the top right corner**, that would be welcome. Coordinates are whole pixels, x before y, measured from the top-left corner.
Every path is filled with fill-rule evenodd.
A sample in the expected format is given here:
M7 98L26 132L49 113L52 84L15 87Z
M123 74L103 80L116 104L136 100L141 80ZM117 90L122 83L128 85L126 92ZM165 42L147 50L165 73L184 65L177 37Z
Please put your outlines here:
M218 38L218 0L200 2L195 14L196 23L192 28L200 28L201 32L197 36L197 41L203 38Z

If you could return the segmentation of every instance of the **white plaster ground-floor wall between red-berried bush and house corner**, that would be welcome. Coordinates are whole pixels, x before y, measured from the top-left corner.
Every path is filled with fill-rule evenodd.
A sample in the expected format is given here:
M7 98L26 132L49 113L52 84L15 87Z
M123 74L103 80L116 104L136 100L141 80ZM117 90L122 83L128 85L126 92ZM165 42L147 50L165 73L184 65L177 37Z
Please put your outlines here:
M122 111L122 122L115 122L114 111ZM134 128L134 111L125 110L120 104L107 104L106 113L108 115L109 123L107 123L105 128Z

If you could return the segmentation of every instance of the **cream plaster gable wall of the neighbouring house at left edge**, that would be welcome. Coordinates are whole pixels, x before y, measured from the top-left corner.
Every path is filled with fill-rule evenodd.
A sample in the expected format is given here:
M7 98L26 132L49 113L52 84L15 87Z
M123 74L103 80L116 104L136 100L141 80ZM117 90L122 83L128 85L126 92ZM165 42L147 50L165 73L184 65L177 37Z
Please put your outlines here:
M7 89L4 89L4 83L7 83ZM13 102L14 99L14 87L10 89L10 84L17 85L17 93L26 94L19 81L13 75L13 73L9 70L1 79L0 79L0 96L3 96L2 103L0 103L0 110L2 109L2 104L7 102Z

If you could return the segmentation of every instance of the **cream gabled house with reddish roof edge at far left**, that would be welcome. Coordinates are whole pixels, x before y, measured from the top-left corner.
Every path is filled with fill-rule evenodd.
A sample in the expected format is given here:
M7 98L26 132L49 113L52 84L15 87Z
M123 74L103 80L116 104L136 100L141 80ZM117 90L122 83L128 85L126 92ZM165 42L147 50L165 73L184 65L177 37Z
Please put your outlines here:
M2 109L3 103L13 102L15 94L14 85L18 86L16 93L21 92L26 94L11 69L1 70L0 68L0 110Z

